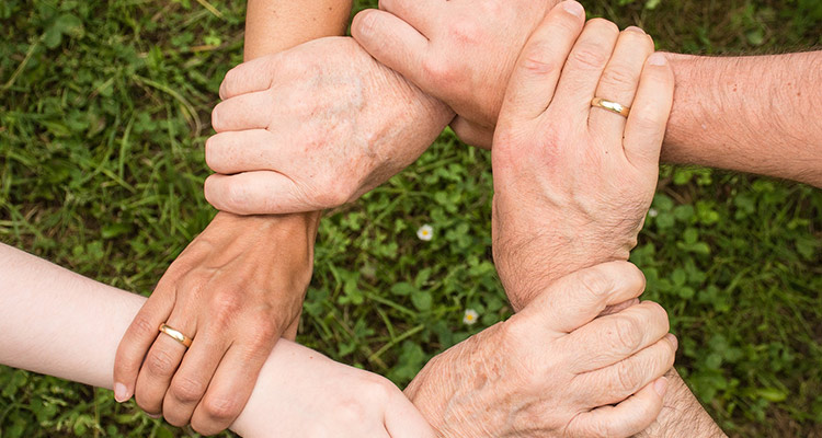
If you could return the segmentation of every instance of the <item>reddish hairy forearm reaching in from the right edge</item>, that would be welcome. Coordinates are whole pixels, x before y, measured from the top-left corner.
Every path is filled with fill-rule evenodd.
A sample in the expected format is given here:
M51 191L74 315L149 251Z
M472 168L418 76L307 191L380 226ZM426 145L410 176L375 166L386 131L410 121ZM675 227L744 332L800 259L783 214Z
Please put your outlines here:
M676 95L663 161L822 186L822 51L669 57Z

